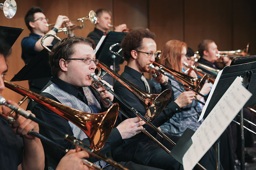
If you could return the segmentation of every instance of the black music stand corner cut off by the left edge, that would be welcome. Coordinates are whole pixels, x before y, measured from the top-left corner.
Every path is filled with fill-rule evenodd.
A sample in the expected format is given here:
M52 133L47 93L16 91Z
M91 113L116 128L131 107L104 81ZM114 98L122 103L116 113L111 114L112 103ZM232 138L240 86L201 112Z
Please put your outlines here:
M4 40L4 43L8 45L8 48L10 50L23 30L23 28L0 26L0 39Z

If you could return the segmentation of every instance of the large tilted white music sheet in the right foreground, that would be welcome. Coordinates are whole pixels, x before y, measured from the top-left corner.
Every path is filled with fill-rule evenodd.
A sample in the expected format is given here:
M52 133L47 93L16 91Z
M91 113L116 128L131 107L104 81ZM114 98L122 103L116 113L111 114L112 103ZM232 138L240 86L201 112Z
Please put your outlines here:
M196 165L251 96L237 77L191 137L193 144L182 158L184 170Z

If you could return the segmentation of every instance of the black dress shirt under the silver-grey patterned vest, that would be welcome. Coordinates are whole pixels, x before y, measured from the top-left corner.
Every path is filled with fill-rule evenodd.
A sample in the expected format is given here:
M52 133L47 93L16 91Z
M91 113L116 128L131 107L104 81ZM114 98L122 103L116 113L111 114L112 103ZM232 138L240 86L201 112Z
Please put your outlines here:
M79 90L78 88L76 88L74 85L68 84L67 82L62 81L59 78L54 78L52 81L49 81L49 83L44 87L44 89L46 87L48 87L49 85L51 85L52 83L56 84L57 86L59 86L62 90L64 90L65 92L68 92L69 94L75 96L76 98L78 98L79 100L83 101L81 99L81 97L79 97ZM43 90L44 90L43 89ZM42 91L43 91L42 90ZM96 97L96 99L99 101L99 97L98 95L92 91L94 96ZM55 97L53 97L51 94L46 93L46 92L41 92L40 95L43 95L49 99L55 100L57 102L60 102L59 100L57 100ZM63 103L65 104L65 103ZM52 125L55 127L56 130L64 132L70 136L74 136L72 129L68 123L68 120L61 117L60 115L55 114L53 111L51 111L50 109L37 104L36 102L29 102L28 110L31 110L32 113L34 113L36 115L37 118L43 120L44 122ZM105 107L102 106L101 104L101 109L102 111L106 110ZM39 125L39 129L40 129L40 134L48 137L49 139L53 140L54 142L62 145L64 148L67 149L74 149L75 146L73 144L71 144L70 142L66 141L65 139L63 139L62 137L59 137L58 135L54 134L53 132L49 131L48 129L44 128L43 126ZM90 142L89 139L83 139L82 142L84 144L86 144L87 146L90 146ZM60 159L65 155L63 152L61 152L60 150L58 150L57 148L52 147L49 144L46 144L44 142L43 146L44 146L44 151L47 152L53 159L55 159L57 162L60 161ZM104 145L104 147L101 149L101 153L102 154L106 154L107 152L109 152L113 147L115 147L118 144L122 143L122 137L118 131L118 129L114 128L111 133L110 136L108 137L108 140L106 142L106 144ZM97 158L90 158L89 159L91 162L96 162L98 161Z

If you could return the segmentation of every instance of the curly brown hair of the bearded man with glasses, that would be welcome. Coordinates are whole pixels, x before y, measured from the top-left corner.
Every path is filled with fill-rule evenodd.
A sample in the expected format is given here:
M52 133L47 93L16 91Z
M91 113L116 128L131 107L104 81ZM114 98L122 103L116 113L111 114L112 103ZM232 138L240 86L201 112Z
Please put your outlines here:
M131 51L133 49L140 50L143 48L143 38L151 38L154 40L155 36L155 33L152 33L148 29L144 28L132 30L131 32L127 33L121 43L124 59L128 61L130 57L132 57Z

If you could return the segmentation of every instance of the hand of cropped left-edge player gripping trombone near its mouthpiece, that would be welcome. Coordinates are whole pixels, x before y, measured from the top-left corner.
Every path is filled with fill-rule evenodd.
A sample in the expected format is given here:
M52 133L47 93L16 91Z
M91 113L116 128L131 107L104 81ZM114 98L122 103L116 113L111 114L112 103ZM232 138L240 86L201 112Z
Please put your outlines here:
M18 106L18 104L12 100L7 100L6 102L20 108L20 106ZM10 109L6 106L2 106L2 111L5 115L7 115L8 112L10 111ZM30 112L30 111L28 110L28 112ZM12 123L12 125L10 125L15 134L17 134L19 136L24 136L27 139L35 139L34 136L28 135L28 132L33 129L34 132L39 133L39 126L36 122L34 122L30 119L26 119L25 117L23 117L17 113L13 113L12 117L16 119Z

